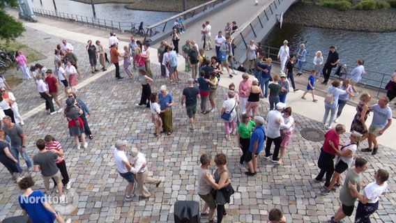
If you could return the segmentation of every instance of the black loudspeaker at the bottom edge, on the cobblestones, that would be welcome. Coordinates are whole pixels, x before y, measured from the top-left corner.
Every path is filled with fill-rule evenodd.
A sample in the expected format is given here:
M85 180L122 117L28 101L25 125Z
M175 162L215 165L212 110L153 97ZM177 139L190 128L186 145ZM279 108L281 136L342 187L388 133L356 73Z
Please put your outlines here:
M174 204L174 222L199 223L200 217L197 201L176 201Z

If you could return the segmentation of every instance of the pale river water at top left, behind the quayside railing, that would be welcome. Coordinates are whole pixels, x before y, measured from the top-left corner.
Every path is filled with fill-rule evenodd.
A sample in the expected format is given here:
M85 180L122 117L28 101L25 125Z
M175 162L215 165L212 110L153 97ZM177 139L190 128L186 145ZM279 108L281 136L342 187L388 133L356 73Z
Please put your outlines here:
M33 8L41 8L45 10L54 11L54 3L52 0L41 0L43 5L40 5L40 0L33 0ZM56 8L59 13L72 13L74 15L82 15L86 17L93 17L91 4L80 3L78 1L70 0L54 0ZM154 24L160 22L168 17L176 15L176 13L163 13L142 10L128 10L124 3L102 3L95 4L96 18L102 20L113 20L116 22L136 22L141 21L144 24Z

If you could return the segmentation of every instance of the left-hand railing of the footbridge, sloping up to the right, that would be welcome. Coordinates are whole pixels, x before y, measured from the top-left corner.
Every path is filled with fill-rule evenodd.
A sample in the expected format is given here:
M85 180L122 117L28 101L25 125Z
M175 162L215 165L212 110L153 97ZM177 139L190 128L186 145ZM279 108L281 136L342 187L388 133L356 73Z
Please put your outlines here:
M212 1L208 1L207 3L201 4L199 6L196 6L194 8L190 8L189 10L185 10L183 13L179 13L172 17L168 17L165 20L152 24L151 26L148 26L146 33L155 33L155 35L159 34L158 36L164 36L172 31L176 18L183 17L183 21L187 22L188 20L191 20L193 17L196 17L200 13L204 13L208 10L212 10L213 8L220 5L221 3L224 3L225 1L230 1L230 0L212 0ZM148 37L149 36L146 36L144 38L144 41L148 40Z

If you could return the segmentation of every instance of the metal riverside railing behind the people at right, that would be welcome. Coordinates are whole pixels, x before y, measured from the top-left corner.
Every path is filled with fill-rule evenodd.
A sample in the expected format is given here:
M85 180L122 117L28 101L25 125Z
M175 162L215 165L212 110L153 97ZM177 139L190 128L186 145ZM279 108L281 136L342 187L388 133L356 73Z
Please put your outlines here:
M264 49L264 52L266 53L266 57L271 57L273 59L273 63L280 63L277 60L277 53L279 52L280 48L275 48L275 47L270 47L270 46L262 46ZM292 52L292 51L291 51ZM294 52L294 51L293 51ZM323 54L323 59L326 58L327 55ZM342 63L342 60L340 62ZM356 67L356 64L347 64L347 74L341 77L338 77L337 75L334 75L335 73L335 68L333 69L334 72L332 72L333 77L340 78L340 79L348 79L351 77L351 71L353 68ZM314 55L312 54L307 54L307 59L305 61L305 66L304 69L306 72L310 72L310 70L313 70L314 68ZM365 70L367 75L363 75L362 79L360 79L360 82L358 83L359 86L362 86L363 88L368 86L372 89L376 89L377 91L377 97L379 97L379 93L385 89L386 84L388 84L390 75L383 73L383 72L376 72L374 70Z

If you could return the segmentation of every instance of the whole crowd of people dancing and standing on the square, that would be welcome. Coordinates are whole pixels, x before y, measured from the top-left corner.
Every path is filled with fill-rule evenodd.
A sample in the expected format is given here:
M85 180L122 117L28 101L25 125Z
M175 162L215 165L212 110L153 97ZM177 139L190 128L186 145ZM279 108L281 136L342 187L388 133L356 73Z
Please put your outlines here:
M230 35L238 30L236 22L232 22L232 26L231 24L225 26L225 37L222 36L222 31L218 32L218 36L215 37L214 42L216 56L210 59L205 56L205 49L212 49L210 22L207 21L201 30L204 47L197 47L195 40L186 40L185 45L181 49L178 47L178 41L180 40L178 35L185 31L185 25L180 20L176 22L178 25L176 26L175 23L174 33L172 33L172 44L168 45L166 41L162 41L160 49L158 49L158 61L161 65L160 75L162 77L169 77L169 82L165 80L165 83L176 84L181 82L177 70L177 56L184 57L185 72L191 71L191 77L187 80L188 86L183 89L180 102L174 101L174 97L169 92L169 89L167 89L166 84L160 86L159 92L152 91L150 83L153 82L154 78L150 69L150 49L148 43L142 44L139 41L135 41L135 38L132 37L128 46L123 47L124 52L120 53L118 50L119 40L116 38L116 35L111 33L109 38L110 61L114 63L116 68L116 78L123 79L119 70L119 58L123 59L125 74L129 78L133 77L130 66L132 66L132 69L137 70L137 80L142 84L142 96L137 106L150 108L151 121L154 124L153 134L155 137L161 137L162 134L169 136L174 132L172 106L175 103L180 103L182 106L185 105L188 115L188 130L195 132L196 115L198 113L197 105L200 100L200 114L219 115L220 119L224 122L225 138L228 141L238 141L238 146L241 148L238 167L244 169L247 176L255 176L257 174L259 167L258 156L261 151L265 151L264 157L267 159L271 158L274 164L282 164L296 125L291 107L287 107L285 104L287 93L290 91L289 81L287 79L290 79L294 91L298 91L293 77L294 59L297 56L297 75L300 76L303 74L303 65L307 54L305 45L300 45L296 56L290 56L289 47L287 46L288 42L285 40L284 45L280 48L280 54L278 54L282 72L280 75L271 75L272 59L265 58L261 47L255 45L254 41L250 41L250 45L246 51L246 58L249 64L248 72L243 73L243 80L238 86L229 84L229 91L227 91L227 95L224 97L225 100L221 107L218 107L216 105L216 100L219 98L217 91L220 78L222 77L223 66L226 68L229 77L233 77L234 75L229 71L229 63L231 63L233 57L233 45ZM179 54L179 50L181 54ZM107 69L105 65L107 56L100 41L97 40L96 45L93 45L92 40L88 40L86 51L89 57L90 71L93 74L99 71L96 68L98 58L102 65L102 71ZM19 52L17 56L20 55L22 54ZM48 114L63 112L68 121L70 137L75 139L77 149L80 149L80 145L87 148L88 142L86 142L86 137L93 139L93 134L86 120L86 117L89 116L89 109L76 95L77 89L75 89L75 86L77 86L77 80L82 78L82 74L78 69L79 62L77 55L73 53L73 46L67 43L66 40L63 40L62 44L55 49L55 76L52 74L52 69L47 69L40 64L31 67L30 74L29 70L25 69L27 68L26 59L23 60L22 56L20 58L21 62L18 63L21 66L21 70L24 67L24 70L22 70L24 77L30 79L29 75L33 75L36 78L38 92L45 99ZM312 70L308 78L309 83L307 84L307 91L302 97L303 99L306 99L305 94L311 91L313 101L317 102L314 98L314 83L320 77L321 65L324 63L322 70L324 81L322 83L327 84L330 75L328 69L335 66L338 61L339 59L333 46L330 47L329 56L326 61L323 60L321 52L317 52L317 56L314 59L315 69ZM337 123L342 113L342 108L349 97L353 96L353 94L358 95L356 83L358 83L360 76L364 72L364 67L362 71L361 66L363 66L363 61L358 60L356 71L353 72L356 76L351 75L350 80L344 80L342 83L339 80L332 82L332 86L328 88L328 94L331 96L331 100L325 101L326 112L323 116L323 124L329 131L325 134L326 139L323 142L321 155L318 160L318 167L321 170L314 179L317 182L321 182L322 178L326 175L326 183L323 185L321 194L326 195L334 191L335 187L340 187L340 174L347 171L344 186L340 191L342 207L332 217L332 222L339 222L343 217L351 216L356 197L359 199L356 220L365 222L374 213L376 208L378 208L378 197L385 193L388 187L388 172L379 169L374 175L375 182L371 183L370 187L366 187L363 190L363 194L359 194L361 190L360 173L367 169L367 161L363 158L356 158L354 167L352 166L353 155L357 151L359 143L364 139L368 140L369 146L362 151L371 152L372 155L378 153L379 148L376 137L381 136L392 123L392 111L388 107L388 102L393 98L390 99L389 96L388 98L382 97L376 105L370 106L368 102L370 102L371 96L368 93L360 93L360 103L356 108L357 114L353 118L351 125L349 144L344 145L340 143L340 134L346 131L345 126L341 124L336 125L335 128L331 126L333 122ZM254 77L250 77L248 73L254 74ZM396 77L395 74L393 77ZM58 79L59 82L62 82L64 93L67 96L66 103L63 106L58 99L60 92ZM21 196L43 197L43 194L31 189L34 185L31 177L20 178L22 168L20 167L19 154L25 160L29 174L32 171L41 171L46 193L50 193L50 179L52 178L59 198L61 201L62 199L64 200L63 187L66 190L70 190L71 185L61 145L50 135L47 135L45 139L39 139L36 142L39 152L33 157L32 165L29 156L24 150L26 137L20 127L20 125L24 125L24 121L18 112L15 97L9 91L10 88L6 80L0 77L0 82L3 83L3 86L0 88L2 93L1 100L4 101L3 104L9 105L8 107L6 105L4 107L1 106L6 115L3 117L3 127L0 130L1 162L10 171L10 174L13 174L21 190L25 191ZM391 82L395 81L392 79ZM70 92L68 86L70 86ZM393 91L392 87L388 91ZM388 95L392 94L388 93ZM222 96L220 97L222 98ZM258 112L258 107L264 106L260 98L268 98L270 104L266 118L260 116ZM52 99L54 99L54 102L59 107L57 112ZM208 101L211 106L210 108L207 105ZM218 112L218 114L215 112ZM370 127L367 128L365 121L370 112L374 114L373 121ZM326 123L329 113L330 120ZM237 136L234 137L235 135ZM6 142L6 136L10 137L10 146ZM135 194L132 194L132 188L135 181L139 196L142 198L151 197L151 193L148 192L144 183L153 184L158 187L162 181L148 177L146 156L137 148L132 148L130 151L131 157L128 157L125 153L127 143L127 141L117 140L114 148L116 168L120 176L128 181L124 200L131 201L134 197ZM271 153L272 144L274 144L273 153ZM334 164L333 158L335 155L338 158ZM223 216L227 215L224 205L228 202L224 194L220 191L222 188L231 184L231 174L227 169L227 155L219 153L215 156L214 161L218 169L215 170L212 176L211 171L208 170L211 163L210 155L204 154L200 157L201 174L199 174L198 194L205 201L201 215L208 214L209 222L213 222L215 210L217 209L217 221L222 222ZM217 192L213 194L213 190ZM22 201L24 200L21 197L20 203L24 212L34 218L36 216L32 212L34 208L29 207L29 205L26 205ZM43 210L46 217L63 222L60 215L48 203L41 203L41 205L42 207L35 208ZM367 210L367 207L370 207L370 211ZM268 220L275 222L285 221L282 211L277 209L270 211Z

